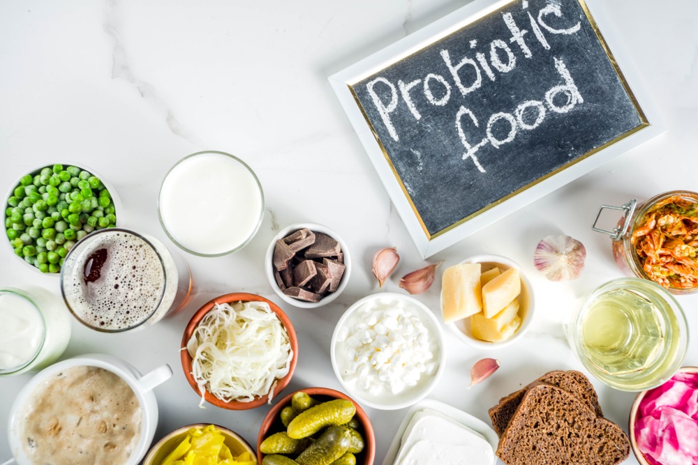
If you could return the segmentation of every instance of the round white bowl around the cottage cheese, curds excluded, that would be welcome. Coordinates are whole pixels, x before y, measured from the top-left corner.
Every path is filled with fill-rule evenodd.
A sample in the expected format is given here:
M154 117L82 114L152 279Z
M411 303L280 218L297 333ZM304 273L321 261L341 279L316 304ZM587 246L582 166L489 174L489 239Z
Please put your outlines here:
M356 383L345 379L345 372L349 368L349 361L346 360L347 348L344 347L345 344L343 344L343 340L347 336L344 332L348 329L347 326L350 324L350 319L352 319L359 310L364 308L375 309L376 305L381 305L382 308L387 305L396 305L403 308L408 314L417 316L419 321L426 327L430 342L433 342L433 345L436 346L434 351L434 358L436 360L432 360L438 364L435 372L433 372L433 374L422 372L415 386L407 387L405 390L397 392L396 394L392 394L389 390L384 389L380 395L372 395L369 391L357 386ZM426 395L429 395L429 392L436 386L436 383L438 383L445 369L446 348L443 330L441 329L438 317L429 310L429 307L426 307L426 305L419 302L419 300L410 296L392 292L379 292L362 298L344 312L332 334L330 358L332 359L332 369L334 369L335 376L339 379L339 382L351 397L374 409L396 410L413 405L419 402L419 400L424 399ZM340 366L340 364L342 366Z

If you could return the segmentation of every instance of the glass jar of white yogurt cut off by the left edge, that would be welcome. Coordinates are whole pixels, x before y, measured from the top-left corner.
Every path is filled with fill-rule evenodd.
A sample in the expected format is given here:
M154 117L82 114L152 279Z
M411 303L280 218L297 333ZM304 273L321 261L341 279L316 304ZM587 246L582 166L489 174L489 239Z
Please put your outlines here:
M0 289L0 322L0 377L50 365L70 340L66 306L39 287Z

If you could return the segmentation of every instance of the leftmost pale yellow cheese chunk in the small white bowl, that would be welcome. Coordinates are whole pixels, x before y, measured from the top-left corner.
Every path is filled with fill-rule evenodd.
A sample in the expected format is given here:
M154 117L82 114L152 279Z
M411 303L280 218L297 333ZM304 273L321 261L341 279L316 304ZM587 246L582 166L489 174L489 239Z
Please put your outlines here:
M443 321L455 321L482 311L480 264L446 268L441 280Z

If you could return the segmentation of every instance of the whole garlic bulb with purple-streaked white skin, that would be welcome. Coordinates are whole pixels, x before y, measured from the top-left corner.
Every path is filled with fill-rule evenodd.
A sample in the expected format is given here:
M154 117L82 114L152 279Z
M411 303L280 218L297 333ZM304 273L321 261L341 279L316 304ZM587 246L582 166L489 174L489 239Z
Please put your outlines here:
M585 260L584 245L570 236L545 236L533 254L533 265L551 281L576 280Z

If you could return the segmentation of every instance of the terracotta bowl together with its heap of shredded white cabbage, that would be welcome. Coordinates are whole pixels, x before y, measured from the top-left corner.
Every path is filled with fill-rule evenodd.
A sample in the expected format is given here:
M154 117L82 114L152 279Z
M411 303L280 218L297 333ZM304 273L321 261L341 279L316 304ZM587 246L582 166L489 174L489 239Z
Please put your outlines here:
M204 402L254 409L288 386L298 340L281 308L256 294L225 294L194 315L181 339L181 366Z

